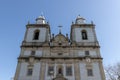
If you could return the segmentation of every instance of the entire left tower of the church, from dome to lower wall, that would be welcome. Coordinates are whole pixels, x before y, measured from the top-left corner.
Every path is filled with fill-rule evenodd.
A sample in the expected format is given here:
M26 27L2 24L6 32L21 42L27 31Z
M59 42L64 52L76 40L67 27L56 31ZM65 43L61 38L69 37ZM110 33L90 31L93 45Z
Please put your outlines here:
M14 80L42 80L40 59L45 52L42 46L49 46L50 34L50 26L42 15L34 24L26 25Z

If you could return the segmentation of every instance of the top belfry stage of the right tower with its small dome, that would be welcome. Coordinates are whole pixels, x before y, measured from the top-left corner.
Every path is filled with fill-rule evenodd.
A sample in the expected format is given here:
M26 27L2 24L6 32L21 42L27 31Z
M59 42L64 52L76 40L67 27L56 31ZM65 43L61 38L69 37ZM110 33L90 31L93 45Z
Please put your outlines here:
M71 26L71 40L76 43L91 42L97 44L95 25L85 23L85 19L79 15Z

